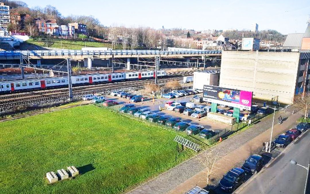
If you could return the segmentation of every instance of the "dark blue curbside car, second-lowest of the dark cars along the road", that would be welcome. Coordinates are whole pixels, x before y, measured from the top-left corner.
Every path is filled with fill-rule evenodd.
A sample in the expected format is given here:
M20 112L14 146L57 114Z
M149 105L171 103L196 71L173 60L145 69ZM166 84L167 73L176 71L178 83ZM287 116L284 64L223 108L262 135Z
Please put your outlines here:
M250 156L242 165L242 169L251 174L256 174L263 168L264 159L262 156L254 154Z

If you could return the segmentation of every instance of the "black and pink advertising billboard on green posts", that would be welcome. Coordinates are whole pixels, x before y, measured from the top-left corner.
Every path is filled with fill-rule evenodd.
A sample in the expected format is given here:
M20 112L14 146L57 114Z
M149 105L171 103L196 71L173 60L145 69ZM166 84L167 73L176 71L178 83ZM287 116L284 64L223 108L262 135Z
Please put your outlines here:
M203 100L250 111L253 92L204 85Z

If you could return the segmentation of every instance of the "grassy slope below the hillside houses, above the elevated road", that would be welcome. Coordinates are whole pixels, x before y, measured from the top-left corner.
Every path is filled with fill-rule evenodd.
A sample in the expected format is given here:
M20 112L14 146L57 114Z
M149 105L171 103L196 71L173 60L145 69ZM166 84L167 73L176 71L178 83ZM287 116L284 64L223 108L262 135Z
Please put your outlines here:
M48 40L47 45L46 41L36 41L33 39L29 39L25 41L23 44L34 44L39 47L53 47L53 48L64 48L64 49L72 49L72 50L81 50L82 47L108 47L112 48L112 44L109 43L100 43L100 42L84 42L84 41L74 41L74 40L65 40L65 39L55 39L53 41ZM121 45L117 45L115 49L122 49Z

